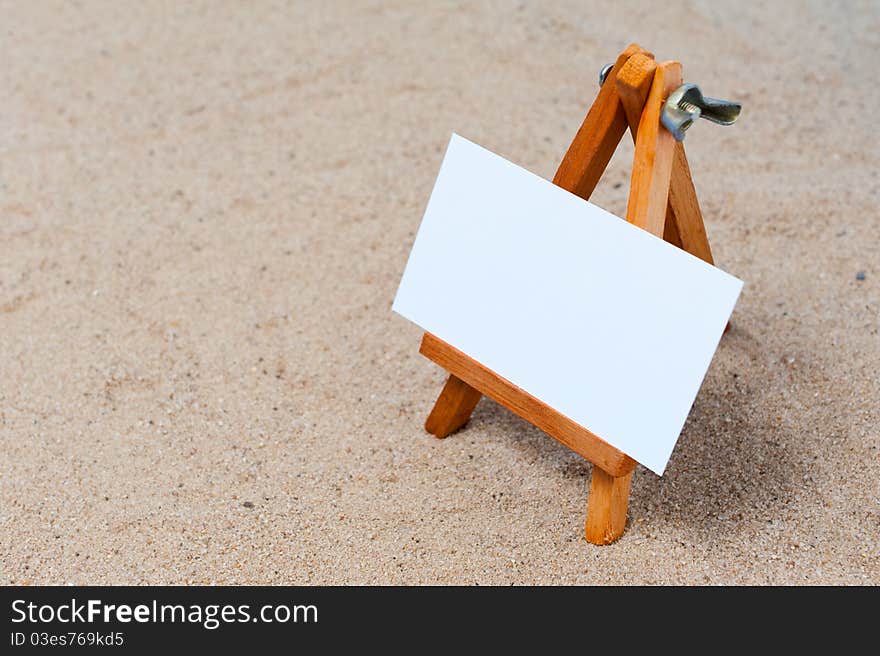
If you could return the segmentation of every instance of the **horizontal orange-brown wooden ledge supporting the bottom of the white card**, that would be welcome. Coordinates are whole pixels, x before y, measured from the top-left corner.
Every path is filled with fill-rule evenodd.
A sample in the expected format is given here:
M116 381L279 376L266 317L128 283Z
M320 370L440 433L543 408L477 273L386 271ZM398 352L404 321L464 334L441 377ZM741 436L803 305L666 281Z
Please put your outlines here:
M619 449L434 335L425 333L419 352L606 472L622 476L635 467Z

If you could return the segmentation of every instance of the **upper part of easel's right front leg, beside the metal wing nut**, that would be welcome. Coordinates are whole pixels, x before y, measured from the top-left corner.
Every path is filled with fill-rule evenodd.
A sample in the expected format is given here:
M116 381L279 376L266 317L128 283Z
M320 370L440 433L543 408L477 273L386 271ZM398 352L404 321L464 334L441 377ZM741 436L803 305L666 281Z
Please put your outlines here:
M672 91L681 86L681 64L664 62L654 71L636 135L626 220L663 237L675 138L661 125L660 112Z

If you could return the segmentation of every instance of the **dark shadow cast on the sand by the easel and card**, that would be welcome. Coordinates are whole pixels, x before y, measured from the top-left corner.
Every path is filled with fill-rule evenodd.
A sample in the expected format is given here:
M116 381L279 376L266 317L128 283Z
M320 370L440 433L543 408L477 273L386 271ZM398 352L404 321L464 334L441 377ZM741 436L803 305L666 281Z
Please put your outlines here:
M766 358L742 329L725 336L664 475L636 468L631 522L638 518L648 529L680 523L735 534L790 502L805 464L796 430L775 416L768 402L773 386L758 364ZM573 493L586 498L590 463L542 431L487 400L477 407L472 425L492 425L509 436L511 447L536 463L532 475L583 481Z

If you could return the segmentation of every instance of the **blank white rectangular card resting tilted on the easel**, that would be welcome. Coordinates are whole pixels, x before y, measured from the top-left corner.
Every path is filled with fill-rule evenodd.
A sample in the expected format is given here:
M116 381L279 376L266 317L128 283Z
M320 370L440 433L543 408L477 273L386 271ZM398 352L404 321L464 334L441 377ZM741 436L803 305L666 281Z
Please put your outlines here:
M453 135L393 309L662 474L741 288Z

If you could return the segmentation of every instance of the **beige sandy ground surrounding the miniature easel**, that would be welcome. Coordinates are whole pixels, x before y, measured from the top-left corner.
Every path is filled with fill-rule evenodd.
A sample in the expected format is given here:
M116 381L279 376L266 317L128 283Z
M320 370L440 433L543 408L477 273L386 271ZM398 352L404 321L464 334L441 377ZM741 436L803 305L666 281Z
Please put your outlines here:
M880 9L846 6L4 2L2 582L880 583ZM745 105L687 147L746 287L600 548L537 429L423 432L444 376L390 305L450 133L551 177L630 41Z

